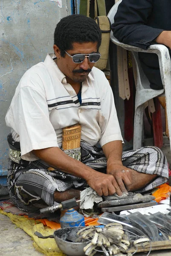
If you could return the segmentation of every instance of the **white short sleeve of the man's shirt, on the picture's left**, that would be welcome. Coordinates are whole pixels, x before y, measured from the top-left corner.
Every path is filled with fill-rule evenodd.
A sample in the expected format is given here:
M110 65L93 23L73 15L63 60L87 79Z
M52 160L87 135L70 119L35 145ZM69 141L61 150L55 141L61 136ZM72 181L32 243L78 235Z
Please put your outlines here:
M30 152L34 149L58 147L56 133L49 120L46 95L36 83L40 85L41 79L35 79L34 82L28 79L26 85L21 84L13 107L16 132L20 136L21 157L25 160L28 157L30 160ZM34 157L32 154L32 160L37 159Z

